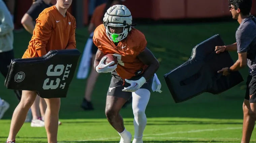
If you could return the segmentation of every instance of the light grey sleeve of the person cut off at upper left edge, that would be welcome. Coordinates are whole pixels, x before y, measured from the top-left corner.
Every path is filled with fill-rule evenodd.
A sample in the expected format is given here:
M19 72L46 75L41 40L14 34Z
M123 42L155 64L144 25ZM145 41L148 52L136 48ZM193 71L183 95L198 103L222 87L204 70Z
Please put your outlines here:
M11 14L3 1L0 1L0 14L1 13L3 14L3 17L0 17L0 36L7 34L14 29Z

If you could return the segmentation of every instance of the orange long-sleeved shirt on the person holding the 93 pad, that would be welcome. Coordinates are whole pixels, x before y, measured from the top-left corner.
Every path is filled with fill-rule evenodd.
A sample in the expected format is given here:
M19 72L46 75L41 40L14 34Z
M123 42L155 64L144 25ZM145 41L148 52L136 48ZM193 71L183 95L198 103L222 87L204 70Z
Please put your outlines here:
M51 50L75 49L75 18L64 17L55 6L44 9L36 19L33 36L22 58L41 57Z

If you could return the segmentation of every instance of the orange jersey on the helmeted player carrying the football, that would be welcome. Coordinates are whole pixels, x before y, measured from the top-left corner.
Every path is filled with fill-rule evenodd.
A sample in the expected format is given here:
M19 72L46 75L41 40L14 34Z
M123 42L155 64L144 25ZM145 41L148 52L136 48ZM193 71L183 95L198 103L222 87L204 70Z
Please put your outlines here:
M135 28L116 46L108 39L105 26L101 24L94 30L93 43L104 55L113 54L117 57L116 72L122 79L130 79L137 71L143 73L148 67L137 58L146 49L147 41L144 34Z

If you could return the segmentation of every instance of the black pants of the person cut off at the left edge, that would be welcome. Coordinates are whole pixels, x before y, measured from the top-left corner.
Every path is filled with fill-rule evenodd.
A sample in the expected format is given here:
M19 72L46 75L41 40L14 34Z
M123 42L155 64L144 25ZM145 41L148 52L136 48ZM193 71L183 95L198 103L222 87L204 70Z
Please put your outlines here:
M11 64L11 60L14 59L14 52L13 50L2 52L0 53L0 72L6 78L9 66ZM21 90L13 90L18 100L21 100Z

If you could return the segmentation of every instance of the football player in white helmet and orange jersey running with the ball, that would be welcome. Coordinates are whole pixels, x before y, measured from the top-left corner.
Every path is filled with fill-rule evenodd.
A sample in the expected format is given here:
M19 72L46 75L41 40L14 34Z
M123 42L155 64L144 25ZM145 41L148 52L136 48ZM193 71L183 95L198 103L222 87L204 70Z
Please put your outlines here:
M143 131L147 124L145 110L159 62L147 48L144 34L131 24L131 12L126 6L114 5L107 10L103 24L94 30L93 42L98 47L94 68L98 73L111 72L105 114L121 136L120 143L130 143L132 139L119 114L131 96L135 130L132 143L143 143ZM105 65L106 57L102 57L106 54L116 56L118 64L110 66L114 63L112 61Z

